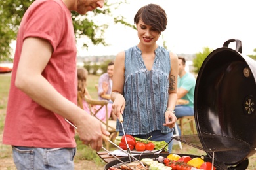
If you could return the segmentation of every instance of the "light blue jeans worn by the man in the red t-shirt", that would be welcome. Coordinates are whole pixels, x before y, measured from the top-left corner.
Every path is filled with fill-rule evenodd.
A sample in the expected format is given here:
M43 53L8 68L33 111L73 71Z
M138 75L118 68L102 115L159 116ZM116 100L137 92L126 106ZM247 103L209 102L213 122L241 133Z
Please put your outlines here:
M12 146L13 159L18 170L74 169L76 148L30 148Z

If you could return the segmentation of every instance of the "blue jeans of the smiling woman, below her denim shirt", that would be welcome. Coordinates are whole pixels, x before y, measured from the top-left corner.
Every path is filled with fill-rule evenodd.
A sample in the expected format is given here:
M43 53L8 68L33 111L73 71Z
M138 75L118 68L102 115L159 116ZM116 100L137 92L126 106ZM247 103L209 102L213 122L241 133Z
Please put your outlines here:
M123 136L123 132L119 131L119 136ZM152 136L150 139L148 137ZM173 132L170 133L161 133L161 131L152 131L146 135L133 135L133 137L139 137L141 139L148 139L150 141L165 141L169 143L173 137ZM168 144L168 152L171 153L173 148L173 140Z

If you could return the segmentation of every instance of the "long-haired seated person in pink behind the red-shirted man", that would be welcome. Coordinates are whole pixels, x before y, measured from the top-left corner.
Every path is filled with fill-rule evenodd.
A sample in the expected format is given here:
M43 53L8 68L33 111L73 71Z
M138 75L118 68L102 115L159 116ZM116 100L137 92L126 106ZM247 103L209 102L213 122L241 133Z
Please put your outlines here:
M84 68L77 69L77 80L78 80L77 90L81 91L81 93L87 98L92 99L91 95L89 94L86 88L87 78L88 78L87 69L84 69ZM84 99L82 100L82 102L83 102L83 109L90 114L89 104ZM92 105L91 107L93 107L94 110L97 110L98 108L100 108L100 105ZM103 107L102 109L100 109L96 114L96 117L102 120L103 122L106 122L106 119L109 119L110 116L112 116L112 104L108 103L107 107L108 107L108 117L106 117L106 107ZM116 118L115 115L114 117ZM112 118L112 120L114 119Z

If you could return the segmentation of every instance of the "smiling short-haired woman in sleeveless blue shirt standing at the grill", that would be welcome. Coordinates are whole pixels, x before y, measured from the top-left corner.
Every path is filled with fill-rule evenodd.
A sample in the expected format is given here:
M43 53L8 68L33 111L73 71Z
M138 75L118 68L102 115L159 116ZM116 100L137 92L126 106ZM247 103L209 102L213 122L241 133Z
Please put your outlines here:
M112 107L123 116L125 134L152 141L171 141L177 120L177 55L156 41L166 29L167 15L159 5L148 4L135 14L139 44L119 52L113 74ZM117 120L117 131L123 129ZM172 142L169 143L169 152Z

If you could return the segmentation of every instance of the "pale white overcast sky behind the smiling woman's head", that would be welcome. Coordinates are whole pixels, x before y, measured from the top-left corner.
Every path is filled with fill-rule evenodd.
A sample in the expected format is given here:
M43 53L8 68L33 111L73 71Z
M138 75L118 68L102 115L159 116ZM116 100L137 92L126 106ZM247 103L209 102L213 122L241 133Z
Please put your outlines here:
M110 1L110 0L109 0ZM112 0L113 1L113 0ZM194 54L203 47L221 48L228 39L242 41L242 53L254 54L256 48L256 1L240 0L127 0L114 11L133 24L137 10L148 3L156 3L167 12L167 29L163 39L167 48L177 54ZM137 31L123 25L110 25L106 30L106 42L111 46L79 48L81 56L116 55L121 50L138 44ZM158 44L163 45L160 38ZM230 44L234 48L234 44Z

